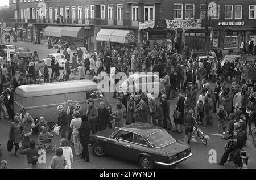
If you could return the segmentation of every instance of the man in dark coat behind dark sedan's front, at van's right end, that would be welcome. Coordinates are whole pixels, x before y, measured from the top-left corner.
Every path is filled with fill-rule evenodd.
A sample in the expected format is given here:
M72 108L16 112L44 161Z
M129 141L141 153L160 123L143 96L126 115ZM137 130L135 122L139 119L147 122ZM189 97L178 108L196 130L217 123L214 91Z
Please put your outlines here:
M98 130L104 131L108 127L110 121L109 111L105 108L104 102L100 103L100 108L98 109Z

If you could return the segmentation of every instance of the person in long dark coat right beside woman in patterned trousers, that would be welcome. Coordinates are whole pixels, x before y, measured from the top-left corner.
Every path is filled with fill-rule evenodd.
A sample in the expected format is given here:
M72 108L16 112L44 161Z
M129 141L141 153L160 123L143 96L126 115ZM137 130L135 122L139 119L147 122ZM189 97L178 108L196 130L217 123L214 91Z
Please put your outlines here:
M82 157L85 162L90 162L88 145L90 141L90 123L88 122L88 117L84 115L82 117L82 124L79 130L80 143L82 144Z

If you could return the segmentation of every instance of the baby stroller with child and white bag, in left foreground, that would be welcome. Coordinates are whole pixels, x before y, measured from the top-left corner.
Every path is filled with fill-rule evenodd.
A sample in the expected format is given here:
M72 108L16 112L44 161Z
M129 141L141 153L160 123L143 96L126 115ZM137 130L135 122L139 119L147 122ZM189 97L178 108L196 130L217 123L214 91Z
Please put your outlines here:
M56 151L56 145L53 145L53 136L54 135L59 135L59 130L60 130L60 126L58 125L54 125L51 128L49 128L48 134L51 135L51 138L48 139L40 139L38 138L38 144L36 144L36 147L38 149L44 149L45 151L47 150L51 150L52 152Z

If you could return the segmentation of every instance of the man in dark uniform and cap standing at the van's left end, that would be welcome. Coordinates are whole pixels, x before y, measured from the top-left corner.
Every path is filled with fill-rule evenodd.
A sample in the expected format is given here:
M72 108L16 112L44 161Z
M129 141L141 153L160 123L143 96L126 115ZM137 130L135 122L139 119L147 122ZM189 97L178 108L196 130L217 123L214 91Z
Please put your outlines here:
M3 101L5 102L5 106L8 112L8 122L13 122L14 112L13 108L11 108L11 105L13 104L13 93L11 93L10 85L10 82L3 84L5 87L5 92L0 96L0 98L3 98Z

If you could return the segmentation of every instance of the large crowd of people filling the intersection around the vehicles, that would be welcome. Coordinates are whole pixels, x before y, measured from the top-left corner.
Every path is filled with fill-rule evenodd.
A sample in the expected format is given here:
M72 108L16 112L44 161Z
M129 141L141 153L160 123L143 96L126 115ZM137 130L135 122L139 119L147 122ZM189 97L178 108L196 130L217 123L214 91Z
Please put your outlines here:
M57 53L60 53L60 49ZM155 45L154 49L150 49L147 45L141 49L133 45L100 47L92 55L87 51L83 52L81 48L72 55L70 47L67 46L63 55L66 58L63 75L60 75L58 61L52 58L51 78L48 66L44 61L39 60L36 51L32 57L19 58L11 55L11 63L7 63L7 66L3 64L0 70L0 88L4 88L0 98L6 106L9 121L12 122L9 138L14 142L15 156L17 156L20 142L17 137L20 137L20 134L29 133L24 131L26 130L24 126L28 130L31 127L39 128L42 139L49 138L46 135L47 122L43 117L40 118L42 120L40 125L35 125L34 119L26 109L22 109L20 116L14 116L13 97L16 87L48 83L53 80L65 81L70 79L71 73L77 72L80 79L85 79L88 71L88 75L97 79L97 75L104 70L110 75L113 67L115 67L115 73L157 72L164 84L160 100L152 97L150 92L128 95L119 92L114 93L113 96L118 96L115 107L105 106L104 102L97 107L93 100L89 100L86 114L82 113L81 105L74 106L72 100L67 102L66 110L59 105L58 125L61 126L60 136L64 145L60 145L61 149L56 151L56 156L51 162L52 168L71 167L73 160L72 151L69 148L72 142L71 136L73 136L75 154L77 156L81 154L81 158L89 162L90 133L106 128L123 127L137 122L152 123L166 130L172 128L172 132L185 131L185 142L189 143L192 127L196 123L208 128L208 126L213 127L213 122L216 120L218 121L216 130L220 133L228 131L229 134L234 131L233 125L236 122L239 122L242 130L248 134L251 132L251 123L254 122L256 125L256 65L249 63L246 59L222 62L223 55L220 48L210 50L207 57L203 59L199 59L196 49L189 50L185 47L182 52L177 52L176 49L167 50L166 45ZM210 58L212 56L214 58ZM18 80L15 78L15 71L19 72ZM210 82L216 83L216 87L211 88ZM170 117L169 100L176 97L176 92L179 92L177 104L174 114ZM199 92L200 95L197 97ZM6 118L2 105L0 110ZM216 119L213 113L217 113ZM22 147L35 149L35 142L32 142L29 137L29 134L23 137ZM24 150L20 152L27 153ZM28 152L31 153L31 151ZM36 155L29 155L31 158L34 156ZM34 167L36 160L31 158L28 163L33 162L31 166Z

